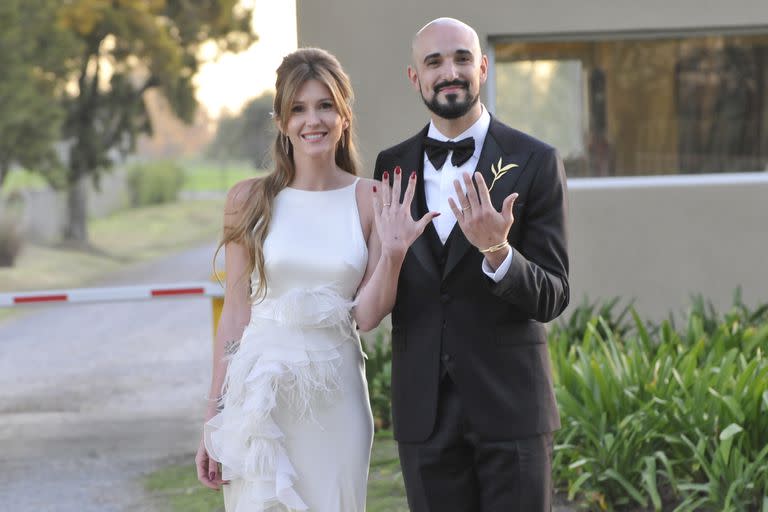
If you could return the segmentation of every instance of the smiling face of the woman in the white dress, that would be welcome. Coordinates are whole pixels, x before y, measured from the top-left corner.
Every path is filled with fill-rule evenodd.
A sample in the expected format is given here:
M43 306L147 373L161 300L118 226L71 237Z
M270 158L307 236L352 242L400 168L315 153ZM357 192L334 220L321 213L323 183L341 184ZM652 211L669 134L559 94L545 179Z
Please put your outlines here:
M285 127L294 156L335 154L344 128L346 121L341 118L328 88L318 80L304 83L290 106Z

